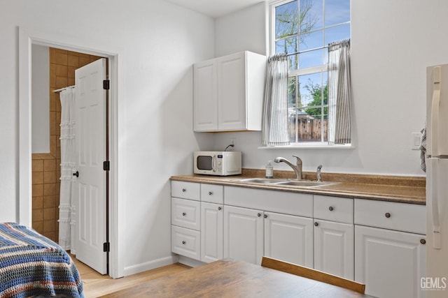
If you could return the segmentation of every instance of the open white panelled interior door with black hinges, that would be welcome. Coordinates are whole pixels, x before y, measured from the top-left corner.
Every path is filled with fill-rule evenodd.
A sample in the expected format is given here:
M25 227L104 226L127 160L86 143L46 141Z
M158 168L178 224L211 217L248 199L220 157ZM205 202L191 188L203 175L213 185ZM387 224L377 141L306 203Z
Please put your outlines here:
M106 242L106 59L75 71L76 258L107 273Z

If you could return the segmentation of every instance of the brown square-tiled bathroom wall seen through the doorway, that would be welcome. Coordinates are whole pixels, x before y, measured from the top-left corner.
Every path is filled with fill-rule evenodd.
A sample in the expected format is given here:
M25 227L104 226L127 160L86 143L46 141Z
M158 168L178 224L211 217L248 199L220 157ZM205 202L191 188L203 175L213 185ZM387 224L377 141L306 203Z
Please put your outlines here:
M50 152L32 155L32 226L44 236L58 241L59 177L61 149L59 124L61 103L55 89L75 84L75 70L100 57L50 47Z

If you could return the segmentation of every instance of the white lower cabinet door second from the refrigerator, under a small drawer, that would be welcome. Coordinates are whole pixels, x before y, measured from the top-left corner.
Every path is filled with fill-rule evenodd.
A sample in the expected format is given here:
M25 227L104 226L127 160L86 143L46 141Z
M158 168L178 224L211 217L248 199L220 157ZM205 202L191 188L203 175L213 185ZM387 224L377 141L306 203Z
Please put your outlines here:
M348 223L314 220L314 269L355 278L353 229Z

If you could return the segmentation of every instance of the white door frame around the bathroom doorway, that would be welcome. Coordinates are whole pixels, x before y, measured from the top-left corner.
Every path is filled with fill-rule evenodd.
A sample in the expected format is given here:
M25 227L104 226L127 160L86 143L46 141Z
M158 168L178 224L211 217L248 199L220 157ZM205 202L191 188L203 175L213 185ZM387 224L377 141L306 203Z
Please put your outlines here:
M124 135L123 114L123 73L124 50L118 47L66 36L60 33L34 31L18 27L19 36L19 167L18 167L18 223L31 227L32 182L31 182L31 45L57 47L62 50L83 52L109 58L109 275L112 278L124 276L125 230L123 217L119 211L124 210L123 188L118 187L123 181L118 169L123 169L123 149L118 140ZM118 93L120 90L120 93ZM123 147L123 145L121 145ZM121 240L121 241L120 241Z

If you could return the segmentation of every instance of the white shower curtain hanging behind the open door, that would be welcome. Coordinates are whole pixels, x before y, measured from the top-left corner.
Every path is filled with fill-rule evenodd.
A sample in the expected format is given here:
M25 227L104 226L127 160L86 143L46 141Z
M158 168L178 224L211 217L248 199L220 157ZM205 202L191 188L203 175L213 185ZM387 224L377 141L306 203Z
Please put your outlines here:
M75 89L59 94L61 100L61 188L59 192L59 245L75 251L75 212L72 202L73 172L75 172Z

